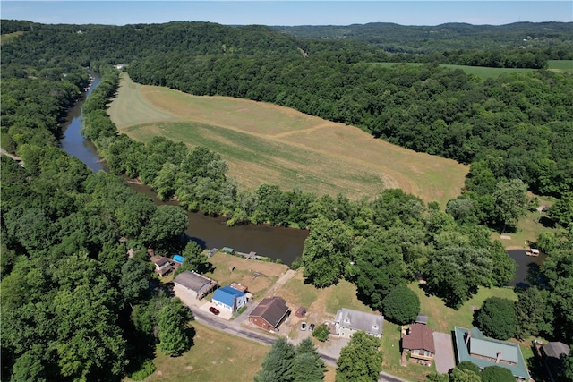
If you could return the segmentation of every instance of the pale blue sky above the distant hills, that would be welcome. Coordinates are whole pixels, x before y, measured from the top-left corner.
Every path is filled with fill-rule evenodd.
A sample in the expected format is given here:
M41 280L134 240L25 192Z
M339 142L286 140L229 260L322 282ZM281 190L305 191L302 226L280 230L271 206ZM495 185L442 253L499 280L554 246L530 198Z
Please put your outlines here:
M107 24L211 21L221 24L349 25L395 22L508 24L573 21L573 1L2 1L2 19Z

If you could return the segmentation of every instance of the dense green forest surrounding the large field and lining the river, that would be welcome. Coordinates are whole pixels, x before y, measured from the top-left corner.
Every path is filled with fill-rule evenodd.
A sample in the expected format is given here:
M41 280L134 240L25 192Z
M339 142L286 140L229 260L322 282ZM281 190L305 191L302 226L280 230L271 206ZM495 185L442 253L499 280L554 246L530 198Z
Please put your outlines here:
M24 163L3 156L0 166L3 380L118 380L152 371L156 345L174 355L191 345L188 311L168 299L145 252L193 252L179 240L184 210L156 207L117 175L138 177L184 208L227 216L229 225L310 228L293 267L317 287L350 280L373 310L389 307L390 293L416 275L454 308L481 286L507 284L515 263L490 240L491 228L515 229L535 208L527 188L553 196L560 230L539 238L549 258L520 293L518 335L573 342L571 75L482 81L437 62L382 68L372 63L395 55L374 44L261 26L3 21L2 33L10 38L1 143ZM119 78L110 64L128 64L141 83L291 106L457 159L472 165L466 191L441 210L399 190L358 201L272 184L239 190L208 148L118 135L106 113ZM88 67L102 81L83 106L82 133L110 174L90 174L57 149L58 123L87 86ZM131 259L127 248L137 250Z

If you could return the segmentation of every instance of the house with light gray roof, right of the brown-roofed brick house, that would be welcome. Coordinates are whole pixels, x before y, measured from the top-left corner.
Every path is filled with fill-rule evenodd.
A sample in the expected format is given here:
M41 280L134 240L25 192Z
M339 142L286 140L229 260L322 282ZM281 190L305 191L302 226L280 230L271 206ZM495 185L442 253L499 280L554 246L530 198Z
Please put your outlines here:
M337 311L334 328L337 335L350 338L358 330L381 338L384 316L342 308Z

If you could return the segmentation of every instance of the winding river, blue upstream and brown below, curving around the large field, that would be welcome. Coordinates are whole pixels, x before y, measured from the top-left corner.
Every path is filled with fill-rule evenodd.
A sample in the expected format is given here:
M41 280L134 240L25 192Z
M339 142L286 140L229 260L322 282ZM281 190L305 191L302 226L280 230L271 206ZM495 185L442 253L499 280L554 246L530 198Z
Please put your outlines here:
M91 91L98 86L100 78L93 81L90 89L70 109L65 122L62 124L63 138L61 148L71 157L79 158L93 172L107 171L107 167L98 157L95 146L81 136L81 106ZM157 198L149 186L129 183L138 192L148 195L157 205L172 204ZM295 228L272 227L269 225L236 225L229 227L222 217L210 217L201 213L187 212L189 226L185 231L194 242L202 248L230 247L240 252L257 252L258 255L270 259L280 259L284 264L291 265L293 260L300 257L304 249L304 239L308 231Z

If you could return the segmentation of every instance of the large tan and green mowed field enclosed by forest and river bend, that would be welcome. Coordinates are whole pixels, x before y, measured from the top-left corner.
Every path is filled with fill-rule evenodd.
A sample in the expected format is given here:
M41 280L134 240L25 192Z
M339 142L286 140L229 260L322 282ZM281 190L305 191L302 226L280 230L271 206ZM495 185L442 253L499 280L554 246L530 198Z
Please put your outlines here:
M350 199L400 188L445 206L464 185L468 166L394 146L342 123L293 109L226 97L197 97L142 86L125 74L109 114L119 132L147 142L156 135L218 152L242 188L261 183L283 190Z

